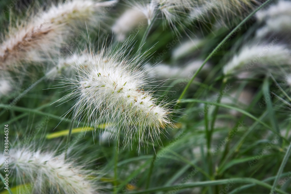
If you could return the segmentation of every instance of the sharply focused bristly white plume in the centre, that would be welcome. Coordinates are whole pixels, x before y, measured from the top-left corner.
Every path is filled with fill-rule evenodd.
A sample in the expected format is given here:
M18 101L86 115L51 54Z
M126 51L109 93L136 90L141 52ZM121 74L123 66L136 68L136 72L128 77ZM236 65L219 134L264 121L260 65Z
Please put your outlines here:
M130 58L127 44L115 51L102 48L97 56L90 52L92 64L77 69L76 78L65 79L65 83L70 82L66 87L71 93L60 100L77 97L71 108L76 108L74 118L86 119L95 128L99 124L116 128L109 131L114 133L111 136L119 140L124 133L125 145L131 145L137 135L140 148L145 139L154 142L163 134L161 129L171 125L171 110L152 92L145 91L146 72L138 70L145 58Z

